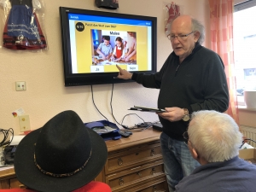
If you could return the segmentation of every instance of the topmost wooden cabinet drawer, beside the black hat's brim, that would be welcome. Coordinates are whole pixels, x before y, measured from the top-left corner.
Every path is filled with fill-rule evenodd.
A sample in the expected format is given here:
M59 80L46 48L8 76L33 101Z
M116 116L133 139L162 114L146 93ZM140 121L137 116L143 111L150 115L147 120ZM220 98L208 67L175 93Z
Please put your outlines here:
M161 160L160 143L148 144L137 148L131 148L118 153L109 154L105 165L106 174L119 172L132 166L138 166L153 160Z

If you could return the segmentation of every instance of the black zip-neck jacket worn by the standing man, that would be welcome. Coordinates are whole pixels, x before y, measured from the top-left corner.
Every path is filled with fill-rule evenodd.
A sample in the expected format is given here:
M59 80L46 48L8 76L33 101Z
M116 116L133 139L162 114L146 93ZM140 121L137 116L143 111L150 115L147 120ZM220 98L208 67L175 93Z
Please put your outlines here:
M181 64L172 52L160 72L133 73L132 78L147 88L160 89L158 108L188 108L224 112L229 107L229 90L224 63L218 54L196 43L192 53ZM189 121L171 122L160 117L163 131L169 137L183 140Z

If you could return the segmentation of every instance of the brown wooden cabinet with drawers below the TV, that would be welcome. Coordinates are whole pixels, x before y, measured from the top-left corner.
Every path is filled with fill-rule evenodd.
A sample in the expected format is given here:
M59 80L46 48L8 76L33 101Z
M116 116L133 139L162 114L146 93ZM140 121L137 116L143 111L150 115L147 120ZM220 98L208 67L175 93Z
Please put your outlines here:
M128 138L107 141L108 160L96 181L108 183L113 192L168 191L160 131L134 131ZM0 172L0 189L20 188L15 172Z

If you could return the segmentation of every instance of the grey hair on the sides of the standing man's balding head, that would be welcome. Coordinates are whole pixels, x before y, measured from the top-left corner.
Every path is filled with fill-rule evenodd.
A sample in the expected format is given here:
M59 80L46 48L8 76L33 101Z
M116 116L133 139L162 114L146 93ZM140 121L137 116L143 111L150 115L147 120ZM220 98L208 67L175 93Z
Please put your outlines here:
M178 17L178 16L177 16ZM176 18L177 18L176 17ZM175 19L176 19L175 18ZM175 20L174 19L174 20ZM172 20L173 21L173 20ZM192 32L199 32L200 33L200 37L198 39L198 43L199 44L203 44L206 38L206 32L205 32L205 27L201 24L201 22L199 20L195 20L194 18L191 18L191 22L192 22ZM171 29L172 29L172 22L167 23L166 24L166 36L169 35L171 33Z

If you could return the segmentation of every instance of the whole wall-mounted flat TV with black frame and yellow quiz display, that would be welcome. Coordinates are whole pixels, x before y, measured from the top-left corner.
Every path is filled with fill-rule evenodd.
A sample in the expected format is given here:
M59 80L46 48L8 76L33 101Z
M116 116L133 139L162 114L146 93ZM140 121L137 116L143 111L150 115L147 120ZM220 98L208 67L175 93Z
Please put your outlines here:
M60 7L65 86L114 84L116 65L156 72L155 17Z

